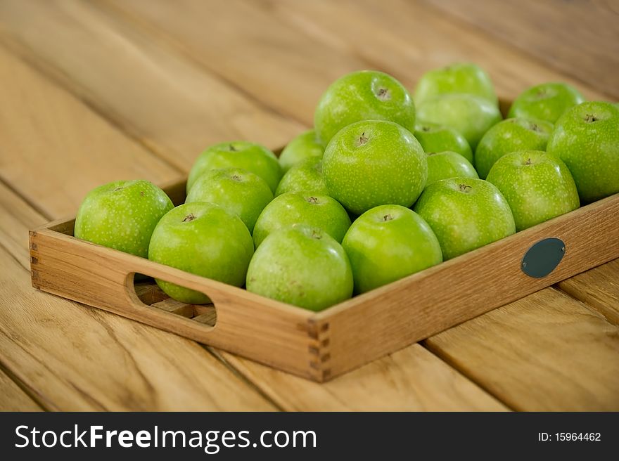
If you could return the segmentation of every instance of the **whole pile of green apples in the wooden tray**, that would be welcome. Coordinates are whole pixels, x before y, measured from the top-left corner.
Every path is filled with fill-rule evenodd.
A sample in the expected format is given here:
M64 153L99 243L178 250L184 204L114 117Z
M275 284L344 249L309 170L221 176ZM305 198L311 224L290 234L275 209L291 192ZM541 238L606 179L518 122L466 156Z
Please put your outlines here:
M148 181L106 184L75 236L319 311L618 192L616 104L545 83L503 120L478 65L427 72L414 96L360 71L328 87L279 159L212 145L179 207Z

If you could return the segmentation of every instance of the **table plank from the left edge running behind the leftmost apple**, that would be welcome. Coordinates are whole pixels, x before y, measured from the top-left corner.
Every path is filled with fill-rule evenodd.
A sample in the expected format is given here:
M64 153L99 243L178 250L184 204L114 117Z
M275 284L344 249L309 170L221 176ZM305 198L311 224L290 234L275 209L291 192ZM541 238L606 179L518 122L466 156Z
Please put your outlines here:
M2 48L0 79L0 178L47 216L108 181L180 175Z

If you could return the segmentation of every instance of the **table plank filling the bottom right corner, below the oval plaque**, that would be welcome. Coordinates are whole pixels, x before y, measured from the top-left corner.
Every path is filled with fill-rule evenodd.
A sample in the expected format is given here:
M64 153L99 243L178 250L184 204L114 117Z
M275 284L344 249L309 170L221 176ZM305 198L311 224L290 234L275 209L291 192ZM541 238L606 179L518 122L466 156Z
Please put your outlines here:
M619 327L554 288L426 346L516 410L619 410Z

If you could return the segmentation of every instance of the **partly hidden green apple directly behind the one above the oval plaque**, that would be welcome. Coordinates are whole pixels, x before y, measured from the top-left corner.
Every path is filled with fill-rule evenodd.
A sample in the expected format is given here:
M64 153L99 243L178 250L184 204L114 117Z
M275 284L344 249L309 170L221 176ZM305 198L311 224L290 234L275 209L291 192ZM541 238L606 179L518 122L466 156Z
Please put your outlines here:
M494 162L516 150L546 150L552 124L542 120L506 119L492 126L475 150L475 167L485 179Z

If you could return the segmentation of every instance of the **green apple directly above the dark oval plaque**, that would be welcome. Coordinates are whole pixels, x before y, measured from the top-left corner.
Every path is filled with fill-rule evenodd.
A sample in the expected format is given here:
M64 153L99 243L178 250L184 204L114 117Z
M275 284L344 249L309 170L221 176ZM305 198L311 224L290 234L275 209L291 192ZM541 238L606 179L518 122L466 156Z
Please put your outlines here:
M571 212L580 206L570 170L554 155L521 150L501 157L487 181L501 191L516 222L516 231Z

